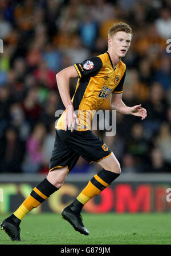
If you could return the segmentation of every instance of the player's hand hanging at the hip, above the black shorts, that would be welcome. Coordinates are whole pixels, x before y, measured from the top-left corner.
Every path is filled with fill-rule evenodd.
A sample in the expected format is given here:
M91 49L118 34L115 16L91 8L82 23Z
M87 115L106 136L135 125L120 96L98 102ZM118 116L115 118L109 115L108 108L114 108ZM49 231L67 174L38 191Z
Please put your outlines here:
M74 112L73 105L68 105L65 113L65 131L71 130L73 132L75 123L79 125L78 117Z

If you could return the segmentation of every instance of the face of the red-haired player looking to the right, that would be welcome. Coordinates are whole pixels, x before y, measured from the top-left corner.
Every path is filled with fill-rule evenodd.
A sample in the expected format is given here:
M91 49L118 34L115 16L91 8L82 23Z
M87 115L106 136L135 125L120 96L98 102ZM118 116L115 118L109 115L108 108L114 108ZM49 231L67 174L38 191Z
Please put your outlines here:
M118 57L124 57L131 45L132 35L124 31L117 32L112 38L108 39L112 53Z

